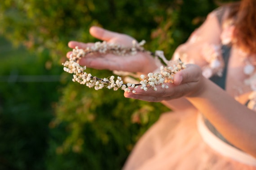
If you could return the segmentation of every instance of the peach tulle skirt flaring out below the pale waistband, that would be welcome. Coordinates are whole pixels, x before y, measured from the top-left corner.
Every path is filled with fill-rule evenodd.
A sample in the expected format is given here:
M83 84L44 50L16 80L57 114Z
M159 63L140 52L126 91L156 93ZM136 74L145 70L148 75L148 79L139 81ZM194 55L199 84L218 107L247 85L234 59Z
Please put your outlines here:
M229 150L221 153L221 145L214 149L205 142L208 136L202 137L199 119L196 110L161 115L137 142L123 170L256 170L255 158L246 155L249 162L239 161L244 158L229 157L223 154Z

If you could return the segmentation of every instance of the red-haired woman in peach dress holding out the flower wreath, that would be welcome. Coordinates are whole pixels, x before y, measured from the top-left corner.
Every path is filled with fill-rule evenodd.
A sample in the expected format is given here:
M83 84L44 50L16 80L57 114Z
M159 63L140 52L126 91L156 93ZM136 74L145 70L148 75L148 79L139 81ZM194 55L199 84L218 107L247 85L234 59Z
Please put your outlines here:
M172 109L141 137L124 170L256 170L256 0L220 7L177 48L187 68L168 89L126 98L162 102ZM101 40L132 46L132 37L93 26ZM71 41L69 47L91 43ZM67 53L67 56L71 52ZM95 54L80 65L147 74L158 65L148 54Z

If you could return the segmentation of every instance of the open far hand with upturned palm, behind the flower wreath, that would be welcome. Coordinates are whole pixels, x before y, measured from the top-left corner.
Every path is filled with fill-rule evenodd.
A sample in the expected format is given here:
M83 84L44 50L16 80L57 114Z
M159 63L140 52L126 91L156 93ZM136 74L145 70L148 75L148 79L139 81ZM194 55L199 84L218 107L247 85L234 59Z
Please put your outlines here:
M124 47L132 47L132 41L134 38L126 35L119 34L109 30L105 30L96 26L90 28L90 34L95 38L108 43L116 43ZM94 43L81 43L76 41L71 41L68 46L75 48L86 48L93 46ZM67 57L71 54L71 51L67 53ZM86 65L89 68L95 69L108 69L108 70L118 70L126 72L142 72L148 73L154 71L157 66L154 63L154 58L145 52L138 52L135 55L113 55L113 54L99 54L94 53L87 55L86 57L80 59L80 65Z

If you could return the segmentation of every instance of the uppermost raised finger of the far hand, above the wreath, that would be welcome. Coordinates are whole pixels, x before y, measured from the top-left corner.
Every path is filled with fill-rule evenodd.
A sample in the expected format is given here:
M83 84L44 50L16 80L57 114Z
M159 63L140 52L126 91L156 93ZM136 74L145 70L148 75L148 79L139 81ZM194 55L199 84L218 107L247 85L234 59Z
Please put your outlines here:
M93 37L104 40L104 41L109 41L111 38L114 38L119 35L119 33L105 30L97 26L92 26L89 31Z

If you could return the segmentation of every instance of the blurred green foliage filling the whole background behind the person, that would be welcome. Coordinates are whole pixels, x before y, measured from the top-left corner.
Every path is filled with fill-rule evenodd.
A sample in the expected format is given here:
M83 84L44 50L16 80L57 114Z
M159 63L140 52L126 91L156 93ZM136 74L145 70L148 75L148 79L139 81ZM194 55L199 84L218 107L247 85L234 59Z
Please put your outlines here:
M146 49L163 50L170 59L215 8L214 0L2 0L0 34L18 54L1 52L1 76L16 70L14 75L60 79L0 82L0 169L119 170L168 109L124 98L121 90L95 91L72 82L61 66L67 43L97 41L88 34L97 25L145 39Z

